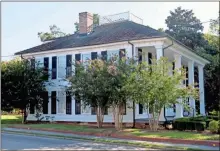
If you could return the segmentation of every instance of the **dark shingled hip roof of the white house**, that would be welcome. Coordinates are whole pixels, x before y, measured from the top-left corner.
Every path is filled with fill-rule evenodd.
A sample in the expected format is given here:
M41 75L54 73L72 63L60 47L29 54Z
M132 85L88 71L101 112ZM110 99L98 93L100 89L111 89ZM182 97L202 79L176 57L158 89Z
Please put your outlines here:
M137 24L132 21L122 21L97 26L89 35L73 34L56 38L39 46L16 52L15 55L165 36L167 36L165 33L159 32L149 26Z

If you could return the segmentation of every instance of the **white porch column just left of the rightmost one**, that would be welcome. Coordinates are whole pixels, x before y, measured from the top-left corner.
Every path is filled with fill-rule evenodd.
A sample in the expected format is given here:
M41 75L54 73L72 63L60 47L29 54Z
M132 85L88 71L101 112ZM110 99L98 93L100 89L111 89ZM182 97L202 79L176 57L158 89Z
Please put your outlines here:
M188 61L188 80L189 85L192 85L194 87L194 61L190 60ZM190 116L196 115L196 104L195 99L190 97L189 98L189 104L190 104Z

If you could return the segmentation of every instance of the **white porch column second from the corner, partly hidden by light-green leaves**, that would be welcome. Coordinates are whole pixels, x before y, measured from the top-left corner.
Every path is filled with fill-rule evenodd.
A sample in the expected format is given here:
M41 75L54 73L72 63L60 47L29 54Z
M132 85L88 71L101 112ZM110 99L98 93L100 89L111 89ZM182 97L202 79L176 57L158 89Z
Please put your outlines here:
M180 54L176 53L176 54L174 54L174 60L175 60L175 69L180 69L182 56ZM178 98L177 101L179 103L176 103L176 115L174 118L181 118L181 117L183 117L182 99Z

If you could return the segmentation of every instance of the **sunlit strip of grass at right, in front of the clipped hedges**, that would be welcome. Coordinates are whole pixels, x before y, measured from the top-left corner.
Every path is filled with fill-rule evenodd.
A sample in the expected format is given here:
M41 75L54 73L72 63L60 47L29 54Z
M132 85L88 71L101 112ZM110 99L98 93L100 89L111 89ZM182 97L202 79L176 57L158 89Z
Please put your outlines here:
M158 131L150 132L140 129L125 129L124 134L134 135L148 138L174 138L174 139L187 139L187 140L219 140L217 134L203 134L196 132L181 132L181 131Z

